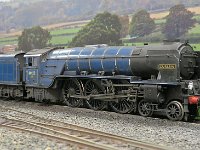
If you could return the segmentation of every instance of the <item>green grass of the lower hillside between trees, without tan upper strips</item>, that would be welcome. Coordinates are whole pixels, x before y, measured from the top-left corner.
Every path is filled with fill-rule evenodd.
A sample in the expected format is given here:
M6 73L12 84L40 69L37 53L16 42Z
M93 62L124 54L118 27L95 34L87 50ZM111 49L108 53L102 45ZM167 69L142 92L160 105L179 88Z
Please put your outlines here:
M200 15L195 15L194 18L198 21L196 23L195 27L189 30L188 34L186 34L186 39L189 39L190 43L193 44L195 50L200 50ZM158 30L155 33L152 33L148 36L145 36L140 41L157 41L161 42L162 39L165 39L163 34L161 33L161 26L166 22L166 19L155 19L155 23L158 26ZM50 30L50 34L52 35L52 39L49 43L52 45L59 45L59 44L67 44L69 43L72 38L76 35L78 31L80 31L81 28L62 28L62 29L54 29ZM8 45L8 44L17 44L17 38L18 37L6 37L6 38L0 38L0 46ZM154 43L155 43L154 42ZM140 43L140 42L137 42ZM198 43L198 44L196 44ZM132 45L132 44L128 44ZM133 43L134 45L134 43Z

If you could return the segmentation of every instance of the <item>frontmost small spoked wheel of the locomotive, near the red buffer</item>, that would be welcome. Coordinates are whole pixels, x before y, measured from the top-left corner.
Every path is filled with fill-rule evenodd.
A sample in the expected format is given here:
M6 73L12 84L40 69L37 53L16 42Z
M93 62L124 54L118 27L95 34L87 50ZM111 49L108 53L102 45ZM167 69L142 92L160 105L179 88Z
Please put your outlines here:
M166 115L170 120L179 121L184 117L183 105L178 101L171 101L166 108Z

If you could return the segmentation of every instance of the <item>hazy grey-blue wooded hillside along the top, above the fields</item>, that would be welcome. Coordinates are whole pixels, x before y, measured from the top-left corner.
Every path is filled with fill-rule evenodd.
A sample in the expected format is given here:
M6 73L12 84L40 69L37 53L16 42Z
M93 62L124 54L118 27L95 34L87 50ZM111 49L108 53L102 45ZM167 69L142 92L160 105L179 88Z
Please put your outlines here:
M195 6L200 0L12 0L0 3L0 31L87 20L103 11L116 14L130 14L139 9L161 11L178 3Z

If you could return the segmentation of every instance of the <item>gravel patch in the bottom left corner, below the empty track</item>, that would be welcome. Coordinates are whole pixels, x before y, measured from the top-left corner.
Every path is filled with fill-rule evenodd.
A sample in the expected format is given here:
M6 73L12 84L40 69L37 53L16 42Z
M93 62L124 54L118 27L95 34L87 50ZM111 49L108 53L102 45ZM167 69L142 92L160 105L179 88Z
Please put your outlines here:
M44 139L41 136L31 135L30 133L17 132L5 128L0 129L0 149L1 150L70 150L71 146L56 141Z

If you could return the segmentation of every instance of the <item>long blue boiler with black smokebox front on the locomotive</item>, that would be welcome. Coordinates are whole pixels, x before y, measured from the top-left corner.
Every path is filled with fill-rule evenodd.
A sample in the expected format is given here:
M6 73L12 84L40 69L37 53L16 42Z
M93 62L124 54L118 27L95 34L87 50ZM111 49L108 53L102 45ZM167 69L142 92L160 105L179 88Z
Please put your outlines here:
M189 45L165 43L161 46L144 47L82 47L53 51L49 59L66 61L66 72L87 74L127 75L150 79L158 75L163 64L179 67L180 75L190 79L196 67L196 55ZM171 64L171 66L170 66ZM158 68L159 67L159 68ZM174 68L174 69L175 69ZM163 68L164 69L164 68ZM167 69L167 68L166 68ZM169 68L168 68L169 69Z

